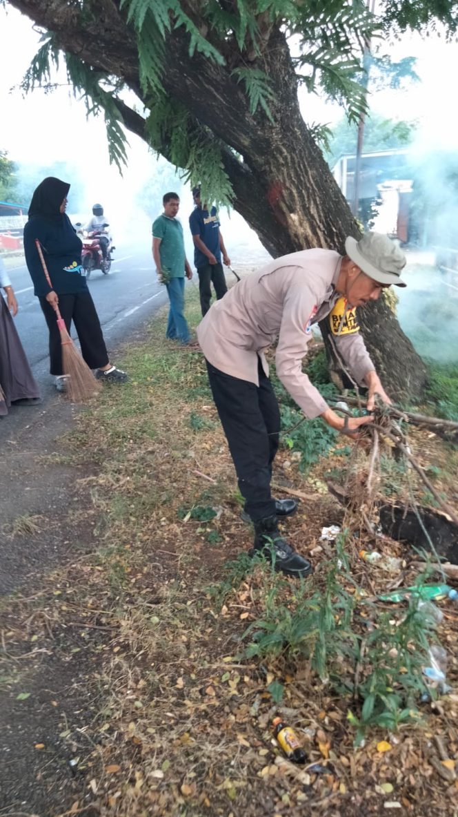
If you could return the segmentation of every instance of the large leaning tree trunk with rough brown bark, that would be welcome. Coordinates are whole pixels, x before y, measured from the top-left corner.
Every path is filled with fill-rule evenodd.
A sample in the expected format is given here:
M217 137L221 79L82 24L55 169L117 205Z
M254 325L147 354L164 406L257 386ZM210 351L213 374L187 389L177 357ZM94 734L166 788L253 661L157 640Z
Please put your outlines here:
M64 51L122 78L148 108L140 88L135 33L117 2L94 3L96 25L65 0L10 2L56 33ZM260 58L274 92L273 122L263 111L251 114L242 86L231 76L233 68L242 65L237 48L230 42L216 44L224 48L227 65L216 65L198 53L189 57L185 30L173 29L167 36L162 83L168 95L185 105L195 127L209 128L227 145L223 161L235 193L234 208L273 256L312 247L344 252L345 237L358 237L358 225L300 115L284 34L278 28L269 30ZM124 103L119 106L127 127L145 138L145 119ZM161 145L161 152L167 158L168 145ZM420 397L425 365L389 306L380 299L359 319L390 393L397 399Z

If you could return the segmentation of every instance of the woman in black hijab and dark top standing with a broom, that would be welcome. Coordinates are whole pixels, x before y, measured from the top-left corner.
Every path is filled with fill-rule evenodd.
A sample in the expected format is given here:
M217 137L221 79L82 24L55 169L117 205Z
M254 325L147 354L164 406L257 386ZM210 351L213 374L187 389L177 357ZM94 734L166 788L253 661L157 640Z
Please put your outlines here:
M96 377L112 382L127 380L127 374L109 362L99 316L82 266L82 243L65 214L69 189L67 182L53 176L44 179L33 193L29 221L24 227L25 261L47 321L51 374L56 376L58 391L64 391L65 386L60 332L53 308L57 304L68 332L73 321L82 357L89 368L96 369ZM42 246L52 288L43 273L36 239Z

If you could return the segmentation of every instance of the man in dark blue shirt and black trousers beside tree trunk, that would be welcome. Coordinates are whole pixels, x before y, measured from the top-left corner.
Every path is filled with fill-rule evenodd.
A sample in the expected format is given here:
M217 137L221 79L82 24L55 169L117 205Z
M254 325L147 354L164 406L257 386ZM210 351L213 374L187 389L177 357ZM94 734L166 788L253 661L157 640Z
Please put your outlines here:
M193 199L195 207L189 216L189 227L194 242L194 264L198 270L200 306L202 315L206 315L210 309L211 283L215 287L218 301L228 291L221 264L221 254L226 266L230 266L230 258L220 233L220 220L216 207L208 211L207 203L202 206L200 187L193 187Z

